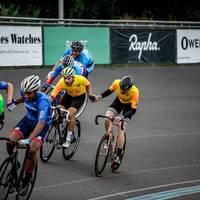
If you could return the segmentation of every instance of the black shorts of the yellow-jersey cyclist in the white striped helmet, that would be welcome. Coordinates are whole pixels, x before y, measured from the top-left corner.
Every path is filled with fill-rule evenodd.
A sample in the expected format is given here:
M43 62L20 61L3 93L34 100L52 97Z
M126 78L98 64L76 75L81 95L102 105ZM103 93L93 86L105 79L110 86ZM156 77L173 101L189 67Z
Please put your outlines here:
M66 109L74 107L79 110L79 108L83 105L84 100L85 93L77 97L72 97L71 95L65 93L59 104L63 105Z

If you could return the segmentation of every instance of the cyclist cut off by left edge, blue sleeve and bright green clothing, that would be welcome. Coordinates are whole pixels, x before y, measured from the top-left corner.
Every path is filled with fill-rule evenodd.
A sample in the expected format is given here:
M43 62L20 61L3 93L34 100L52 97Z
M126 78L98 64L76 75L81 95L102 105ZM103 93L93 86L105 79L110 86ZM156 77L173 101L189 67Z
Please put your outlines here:
M0 90L6 90L6 107L8 111L12 111L16 107L13 100L13 84L6 81L0 81ZM4 100L0 94L0 129L3 128L4 121Z

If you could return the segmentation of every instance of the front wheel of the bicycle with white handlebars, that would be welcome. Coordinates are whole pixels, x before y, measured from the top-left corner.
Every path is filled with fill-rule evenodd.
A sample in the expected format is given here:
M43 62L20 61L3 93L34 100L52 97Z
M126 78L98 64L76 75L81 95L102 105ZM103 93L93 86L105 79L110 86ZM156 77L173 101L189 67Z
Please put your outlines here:
M43 162L47 162L53 155L56 145L56 131L55 124L52 124L40 148L40 159Z

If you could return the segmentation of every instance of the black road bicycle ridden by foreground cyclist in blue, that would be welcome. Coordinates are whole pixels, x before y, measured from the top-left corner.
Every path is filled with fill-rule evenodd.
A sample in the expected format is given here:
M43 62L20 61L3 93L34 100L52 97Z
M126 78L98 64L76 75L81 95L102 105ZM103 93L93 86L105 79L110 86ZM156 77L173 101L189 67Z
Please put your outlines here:
M25 162L28 157L29 145L22 146L17 140L10 140L7 137L0 137L0 141L10 142L14 145L13 153L8 156L0 166L0 199L6 200L8 196L15 195L17 200L27 200L31 196L37 176L38 163L33 170L27 190L22 189L25 177ZM19 149L25 149L25 156L22 165L18 159Z

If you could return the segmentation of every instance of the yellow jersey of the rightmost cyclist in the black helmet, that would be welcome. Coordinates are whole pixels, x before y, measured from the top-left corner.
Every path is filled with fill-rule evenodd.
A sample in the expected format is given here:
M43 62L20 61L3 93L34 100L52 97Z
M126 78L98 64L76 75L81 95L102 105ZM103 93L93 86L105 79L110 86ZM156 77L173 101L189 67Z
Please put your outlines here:
M116 92L121 103L131 103L132 108L137 108L139 101L139 89L133 85L125 94L122 94L119 83L120 79L116 79L109 87L109 90Z

